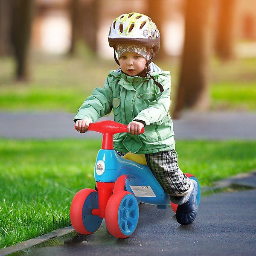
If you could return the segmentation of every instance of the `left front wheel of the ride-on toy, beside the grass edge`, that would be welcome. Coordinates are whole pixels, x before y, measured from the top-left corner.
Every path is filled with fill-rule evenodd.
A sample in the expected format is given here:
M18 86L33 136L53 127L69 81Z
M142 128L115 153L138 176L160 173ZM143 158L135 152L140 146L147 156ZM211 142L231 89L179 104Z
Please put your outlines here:
M76 193L70 207L70 221L80 234L94 233L102 223L102 218L92 215L99 208L98 192L94 189L82 189Z

